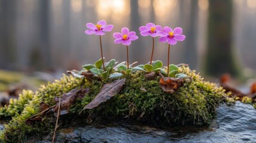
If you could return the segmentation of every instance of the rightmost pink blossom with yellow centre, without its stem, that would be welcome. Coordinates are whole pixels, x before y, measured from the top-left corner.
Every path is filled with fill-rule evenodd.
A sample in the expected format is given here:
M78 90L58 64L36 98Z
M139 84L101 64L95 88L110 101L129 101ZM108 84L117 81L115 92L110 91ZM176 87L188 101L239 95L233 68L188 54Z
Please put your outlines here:
M182 33L181 27L177 27L172 31L170 27L165 26L162 29L159 42L168 42L170 45L175 45L177 41L184 41L184 39L186 38L186 36L181 35L181 33Z

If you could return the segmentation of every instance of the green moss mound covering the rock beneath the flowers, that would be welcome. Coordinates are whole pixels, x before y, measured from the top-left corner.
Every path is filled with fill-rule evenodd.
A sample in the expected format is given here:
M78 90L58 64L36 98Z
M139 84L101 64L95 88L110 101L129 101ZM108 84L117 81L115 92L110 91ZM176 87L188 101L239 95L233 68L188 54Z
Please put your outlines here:
M0 139L2 142L24 142L27 136L53 132L56 120L53 114L48 114L42 122L33 124L26 124L25 120L39 113L40 102L54 105L54 97L60 97L75 88L89 88L90 93L85 94L81 100L76 100L69 110L71 116L60 117L62 125L77 120L83 124L128 120L161 127L209 125L215 118L218 104L227 96L224 89L203 81L189 67L180 67L178 72L187 74L187 77L184 78L183 86L173 94L164 92L160 87L159 74L153 79L147 79L145 73L137 71L119 77L126 80L118 94L97 108L82 113L84 106L95 98L103 85L116 79L93 79L89 82L85 78L64 75L61 80L48 83L36 92L24 91L11 106L0 108L1 117L12 117L1 132Z

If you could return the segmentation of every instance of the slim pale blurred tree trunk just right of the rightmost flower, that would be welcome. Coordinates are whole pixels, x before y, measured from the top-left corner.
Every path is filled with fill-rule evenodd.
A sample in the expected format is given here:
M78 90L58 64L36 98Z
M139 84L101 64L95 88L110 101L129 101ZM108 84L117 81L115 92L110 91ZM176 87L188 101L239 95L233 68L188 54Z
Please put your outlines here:
M182 11L182 10L181 10ZM198 35L198 1L191 1L190 6L190 17L188 20L187 31L186 31L186 41L185 41L185 63L189 64L191 69L196 69L196 64L198 61L198 52L197 52L197 39Z

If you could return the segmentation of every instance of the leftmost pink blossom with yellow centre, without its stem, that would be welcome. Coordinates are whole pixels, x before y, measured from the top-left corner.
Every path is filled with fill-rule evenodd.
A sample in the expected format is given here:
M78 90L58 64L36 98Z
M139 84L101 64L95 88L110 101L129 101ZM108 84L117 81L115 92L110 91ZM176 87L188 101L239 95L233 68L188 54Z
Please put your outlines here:
M109 24L107 25L106 21L100 20L97 24L87 23L86 26L88 27L88 30L85 30L85 33L88 35L92 35L95 33L95 35L105 35L104 32L110 32L113 29L113 25Z

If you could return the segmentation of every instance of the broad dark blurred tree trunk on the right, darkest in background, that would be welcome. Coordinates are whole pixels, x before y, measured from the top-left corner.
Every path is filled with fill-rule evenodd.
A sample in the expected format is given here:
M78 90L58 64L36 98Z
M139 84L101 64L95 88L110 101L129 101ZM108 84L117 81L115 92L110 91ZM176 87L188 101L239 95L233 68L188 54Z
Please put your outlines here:
M206 74L220 76L239 74L232 48L232 0L209 0L208 44L206 51Z

